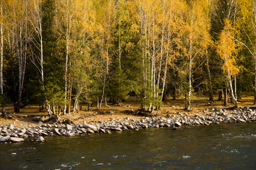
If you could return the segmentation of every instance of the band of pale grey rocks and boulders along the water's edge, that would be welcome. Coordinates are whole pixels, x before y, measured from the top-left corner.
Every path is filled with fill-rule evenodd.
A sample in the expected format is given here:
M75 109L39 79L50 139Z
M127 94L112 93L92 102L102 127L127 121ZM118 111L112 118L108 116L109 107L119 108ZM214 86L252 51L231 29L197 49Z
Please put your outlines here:
M36 137L36 142L43 142L43 136L65 135L71 137L79 134L111 133L111 131L139 130L143 128L172 127L174 130L179 126L210 125L231 122L256 121L255 109L243 108L228 111L225 109L212 109L210 113L188 115L178 112L167 114L165 117L122 118L112 121L85 121L80 124L44 124L39 122L34 126L18 127L14 124L0 127L0 142L22 142L28 137Z

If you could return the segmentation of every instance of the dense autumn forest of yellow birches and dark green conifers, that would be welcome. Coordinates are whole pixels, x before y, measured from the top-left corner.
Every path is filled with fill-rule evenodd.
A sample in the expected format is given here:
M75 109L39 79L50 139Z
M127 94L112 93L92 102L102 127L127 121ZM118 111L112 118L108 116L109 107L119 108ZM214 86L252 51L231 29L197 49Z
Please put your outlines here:
M0 0L2 116L129 96L153 112L167 94L237 107L256 92L255 24L256 0Z

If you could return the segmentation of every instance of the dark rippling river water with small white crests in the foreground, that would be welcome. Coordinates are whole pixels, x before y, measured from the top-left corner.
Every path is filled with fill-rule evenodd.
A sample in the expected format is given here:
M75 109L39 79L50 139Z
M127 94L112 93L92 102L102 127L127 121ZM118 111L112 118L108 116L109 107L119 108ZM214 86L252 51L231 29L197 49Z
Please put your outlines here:
M256 169L256 122L0 143L0 169Z

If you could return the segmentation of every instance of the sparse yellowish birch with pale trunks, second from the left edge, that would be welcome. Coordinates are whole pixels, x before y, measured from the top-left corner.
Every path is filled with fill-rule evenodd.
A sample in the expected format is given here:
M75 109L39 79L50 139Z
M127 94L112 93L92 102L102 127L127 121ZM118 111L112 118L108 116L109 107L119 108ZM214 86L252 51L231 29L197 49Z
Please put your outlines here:
M27 68L28 42L31 37L31 27L28 21L28 8L30 3L24 1L6 1L6 13L9 17L7 30L7 41L9 44L10 59L18 66L18 101L14 94L14 111L19 112L22 103L24 77ZM13 77L15 79L15 77ZM14 80L15 81L15 80ZM16 82L15 82L16 83ZM16 85L13 84L15 91Z

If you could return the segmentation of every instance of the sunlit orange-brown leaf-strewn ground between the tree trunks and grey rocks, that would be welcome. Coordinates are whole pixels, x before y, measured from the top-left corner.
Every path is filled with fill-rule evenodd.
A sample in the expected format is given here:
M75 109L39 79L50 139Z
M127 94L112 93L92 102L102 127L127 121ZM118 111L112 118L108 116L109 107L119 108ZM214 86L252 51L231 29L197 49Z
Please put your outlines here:
M210 105L206 105L209 103L208 96L196 96L193 97L191 102L191 109L189 111L184 111L184 101L185 99L176 98L173 100L171 96L167 96L166 101L163 102L162 107L159 111L154 111L157 113L156 117L164 117L168 114L179 114L179 113L187 113L188 115L192 114L207 114L212 112L212 108L224 108L224 100L217 100L218 96L214 96L214 103L210 103ZM243 92L241 95L240 102L238 105L240 107L255 107L253 105L254 101L254 94L253 92ZM144 116L138 114L131 114L129 111L133 110L136 111L140 108L141 103L136 101L136 97L129 97L126 101L122 102L122 105L103 105L101 111L110 111L110 113L105 114L98 114L96 110L96 104L94 104L91 109L92 111L87 112L86 109L88 108L87 105L81 105L82 109L79 113L71 113L65 114L60 116L61 118L68 118L71 119L75 124L79 124L81 122L90 122L90 121L115 121L115 120L122 120L123 118L129 117L130 119L137 120ZM234 104L228 101L228 108L233 107ZM16 126L36 126L38 122L34 122L32 120L33 116L47 116L46 109L44 111L39 112L38 105L29 104L24 108L20 109L19 113L15 113L13 109L13 104L9 104L6 107L7 116L11 116L13 118L4 119L0 118L0 126L14 124Z

